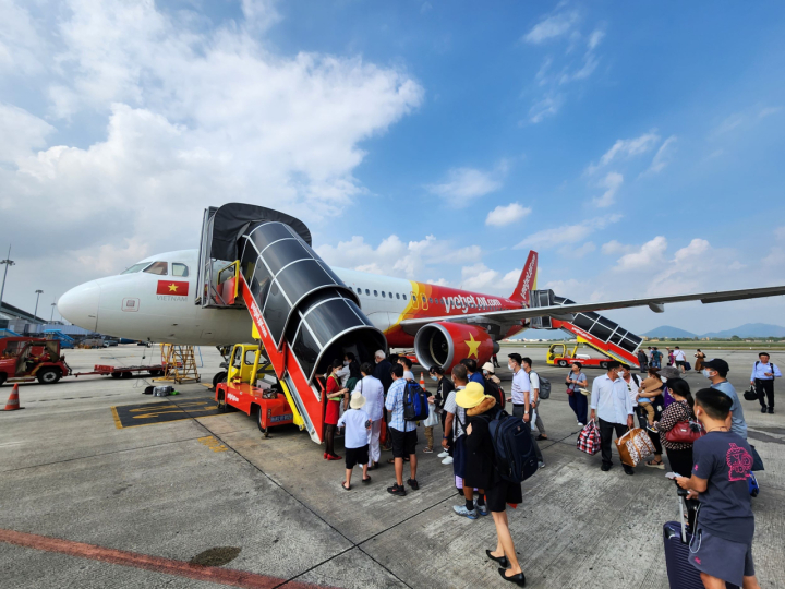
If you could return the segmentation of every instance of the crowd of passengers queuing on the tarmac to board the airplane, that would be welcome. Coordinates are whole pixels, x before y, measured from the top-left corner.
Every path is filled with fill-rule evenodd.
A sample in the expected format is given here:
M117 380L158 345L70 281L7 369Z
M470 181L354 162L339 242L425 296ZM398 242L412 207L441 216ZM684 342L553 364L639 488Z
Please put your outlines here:
M680 350L675 348L675 365L660 368L660 357L656 356L660 352L653 348L645 378L635 374L626 364L608 361L606 374L593 380L591 390L581 364L575 362L565 377L569 405L581 429L592 422L599 428L602 471L607 472L613 467L611 443L614 433L617 438L621 437L638 419L654 448L651 456L647 457L649 460L641 461L648 467L664 469L664 448L671 470L679 477L679 485L702 493L700 496L703 502L722 503L723 493L727 498L730 491L722 490L723 484L717 482L716 472L706 466L711 460L709 456L713 456L727 444L736 444L736 447L750 455L749 460L744 460L747 471L750 465L760 462L760 457L754 447L746 442L744 409L735 388L727 381L727 362L722 359L706 361L704 357L697 356L700 363L696 364L701 366L711 387L700 390L698 397L693 398L688 383L681 378L685 365L684 352L679 352ZM387 488L387 492L406 496L408 490L420 489L416 479L420 423L404 418L404 394L408 383L414 383L412 362L406 357L392 360L394 362L390 362L383 351L378 351L375 365L366 362L358 366L355 358L347 353L342 362L335 360L330 365L325 388L325 458L340 459L335 454L334 440L336 428L343 425L346 477L341 488L347 491L352 488L351 474L355 466L362 467L362 482L371 482L369 471L379 467L383 449L379 440L385 428L386 438L392 450L389 462L395 466L395 482ZM463 359L455 365L449 377L443 368L431 368L430 378L436 385L433 394L427 395L430 412L423 423L426 437L423 453L430 454L434 450L434 429L440 423L443 452L438 457L443 465L451 466L455 488L463 497L462 504L452 507L455 514L471 520L493 515L497 544L493 550L486 550L486 555L502 565L498 569L502 577L522 586L526 579L517 560L506 513L508 504L515 506L522 501L521 485L511 483L495 468L497 457L490 423L506 401L511 401L509 412L522 421L527 437L531 437L540 468L545 465L538 441L547 440L547 434L541 417L541 378L532 370L532 360L510 353L508 368L512 372L509 397L502 389L502 381L496 376L495 366L491 362L479 369L475 360ZM762 352L752 369L750 383L754 386L754 394L759 395L763 412L773 410L773 383L774 378L781 375L780 369ZM386 386L385 382L389 385ZM347 405L339 418L341 400ZM587 414L588 410L590 414ZM730 437L695 438L685 434L685 423L695 423L696 420L711 426L706 428L708 434L720 431L726 432ZM538 426L536 437L532 432L532 424ZM409 478L404 481L407 461ZM623 468L625 473L635 474L635 467L623 464ZM738 470L741 467L733 465L729 468ZM738 488L734 488L733 493L736 495L735 508L746 514L748 509L745 508L744 500L738 496ZM722 510L717 512L716 506L714 509L715 513ZM729 550L727 545L723 545L727 538L717 532L721 526L712 528L712 524L703 519L701 524L705 531L704 539L711 538L712 545L717 549ZM749 543L751 544L751 536ZM701 570L706 587L712 586L711 579L717 578L740 579L745 587L758 587L751 553L745 546L739 549L740 552L734 553L735 560L705 557L706 562L702 566L700 560L691 558L690 562ZM702 552L705 554L705 550Z

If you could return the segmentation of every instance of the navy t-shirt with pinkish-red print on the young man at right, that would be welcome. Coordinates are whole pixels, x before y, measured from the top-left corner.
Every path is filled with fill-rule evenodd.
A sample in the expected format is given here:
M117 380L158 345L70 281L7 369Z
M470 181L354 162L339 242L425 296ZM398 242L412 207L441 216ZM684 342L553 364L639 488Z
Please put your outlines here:
M733 432L709 432L692 446L692 473L708 479L698 514L698 527L730 540L748 544L754 534L747 477L752 468L749 444Z

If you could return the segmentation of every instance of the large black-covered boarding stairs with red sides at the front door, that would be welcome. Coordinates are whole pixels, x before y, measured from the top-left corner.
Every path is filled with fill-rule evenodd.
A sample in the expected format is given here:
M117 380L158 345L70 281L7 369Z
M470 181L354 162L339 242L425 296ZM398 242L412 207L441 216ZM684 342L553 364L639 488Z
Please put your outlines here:
M250 313L294 416L321 443L323 375L351 351L360 362L387 351L384 334L360 300L311 248L301 220L261 206L230 203L205 211L196 304Z

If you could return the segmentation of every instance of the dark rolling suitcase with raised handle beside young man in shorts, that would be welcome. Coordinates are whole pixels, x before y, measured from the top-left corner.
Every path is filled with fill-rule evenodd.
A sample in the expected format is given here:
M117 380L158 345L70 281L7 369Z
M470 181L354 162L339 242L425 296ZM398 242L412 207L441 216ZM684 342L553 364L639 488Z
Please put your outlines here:
M663 525L665 544L665 567L671 589L703 589L700 572L690 564L690 543L698 516L698 502L685 501L687 491L678 489L679 521L666 521ZM687 510L687 521L684 513ZM727 589L739 589L737 585L725 584Z

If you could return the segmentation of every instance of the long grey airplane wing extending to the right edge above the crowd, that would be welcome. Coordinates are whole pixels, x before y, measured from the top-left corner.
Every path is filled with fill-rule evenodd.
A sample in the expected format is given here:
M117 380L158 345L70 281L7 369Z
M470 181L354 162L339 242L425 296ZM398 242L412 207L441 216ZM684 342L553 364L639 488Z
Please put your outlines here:
M715 303L738 301L742 299L759 299L762 297L776 297L785 294L785 286L745 288L740 290L717 290L714 292L697 292L693 294L674 294L668 297L651 297L648 299L626 299L619 301L555 304L551 306L534 306L528 309L509 309L505 311L485 311L482 313L467 313L464 315L445 315L443 317L410 318L400 322L402 327L419 327L428 323L449 321L454 323L480 323L482 320L496 322L517 322L531 317L551 316L563 321L570 321L575 313L589 311L608 311L612 309L628 309L631 306L649 306L655 313L662 313L665 303L700 301Z

